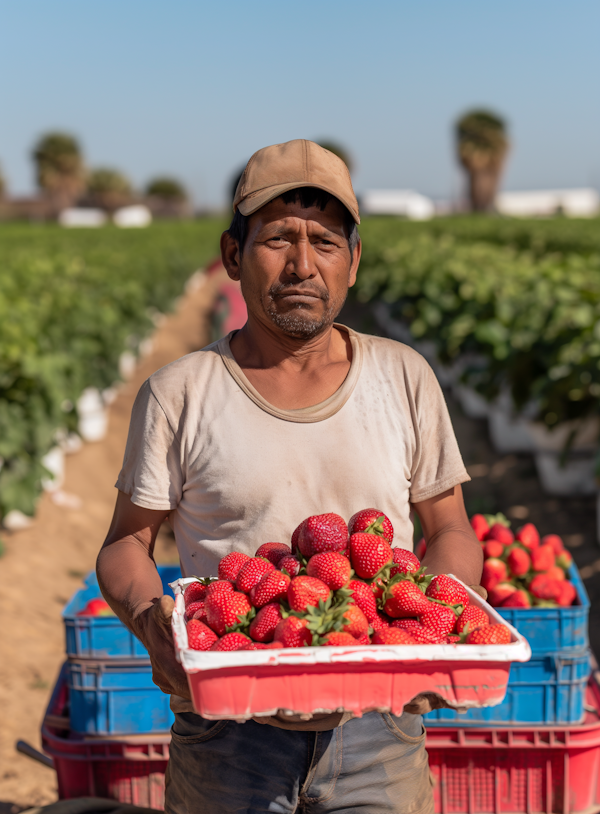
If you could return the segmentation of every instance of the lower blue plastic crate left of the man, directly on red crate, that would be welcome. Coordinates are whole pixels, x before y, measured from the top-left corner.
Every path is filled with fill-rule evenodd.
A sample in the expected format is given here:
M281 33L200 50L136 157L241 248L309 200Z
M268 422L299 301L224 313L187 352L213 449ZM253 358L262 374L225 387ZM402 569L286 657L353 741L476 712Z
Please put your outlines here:
M167 732L169 696L152 682L148 662L87 659L68 663L71 729L86 735Z

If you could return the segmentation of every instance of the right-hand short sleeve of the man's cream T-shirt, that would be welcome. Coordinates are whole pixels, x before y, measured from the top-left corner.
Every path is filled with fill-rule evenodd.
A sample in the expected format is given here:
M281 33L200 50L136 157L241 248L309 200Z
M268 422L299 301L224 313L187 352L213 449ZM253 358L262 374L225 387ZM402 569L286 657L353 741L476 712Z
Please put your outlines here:
M411 503L419 503L471 480L463 463L444 394L425 365L413 393L415 455L411 467Z

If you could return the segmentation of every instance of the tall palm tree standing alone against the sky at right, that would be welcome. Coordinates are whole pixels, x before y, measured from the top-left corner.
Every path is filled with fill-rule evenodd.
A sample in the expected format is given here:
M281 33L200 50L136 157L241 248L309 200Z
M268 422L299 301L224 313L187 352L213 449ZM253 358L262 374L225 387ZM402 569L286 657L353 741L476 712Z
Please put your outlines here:
M458 158L469 176L473 212L490 212L509 149L504 121L488 110L472 110L456 123Z

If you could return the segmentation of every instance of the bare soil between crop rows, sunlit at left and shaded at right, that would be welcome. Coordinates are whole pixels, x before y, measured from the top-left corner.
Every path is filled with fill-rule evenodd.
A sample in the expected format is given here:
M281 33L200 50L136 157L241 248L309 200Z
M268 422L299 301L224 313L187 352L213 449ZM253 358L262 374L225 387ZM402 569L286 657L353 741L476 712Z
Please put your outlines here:
M15 751L15 742L40 748L40 723L50 690L64 660L61 610L93 569L108 529L115 500L113 484L121 465L129 415L141 383L154 370L210 341L209 311L218 275L190 290L172 317L157 330L154 350L122 385L110 408L106 438L87 444L67 459L65 492L81 500L77 510L40 501L27 530L3 532L6 552L0 560L0 814L53 802L52 770ZM372 330L365 311L348 305L340 322ZM533 460L499 455L490 445L485 421L466 418L448 396L456 435L472 481L464 486L469 514L504 512L514 525L534 522L543 534L563 536L581 569L593 607L592 644L600 654L600 549L596 541L595 499L557 499L545 495ZM156 548L159 562L176 562L177 552L163 527ZM25 592L26 610L23 610ZM597 631L597 632L596 632Z

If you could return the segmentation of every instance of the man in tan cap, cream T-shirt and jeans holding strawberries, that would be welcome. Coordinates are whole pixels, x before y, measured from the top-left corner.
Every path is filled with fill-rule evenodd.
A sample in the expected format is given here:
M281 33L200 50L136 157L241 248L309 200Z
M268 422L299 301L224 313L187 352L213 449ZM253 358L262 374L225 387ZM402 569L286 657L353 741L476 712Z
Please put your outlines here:
M289 542L308 515L348 519L367 506L392 519L406 548L416 511L430 571L472 584L481 575L460 489L469 478L431 369L404 345L334 323L361 254L344 163L309 141L259 150L234 212L221 252L248 321L143 385L98 558L105 597L173 695L166 810L429 814L414 713L430 699L400 717L306 721L282 710L266 721L215 723L193 713L174 658L173 601L152 559L167 517L187 575L216 574L232 550Z

